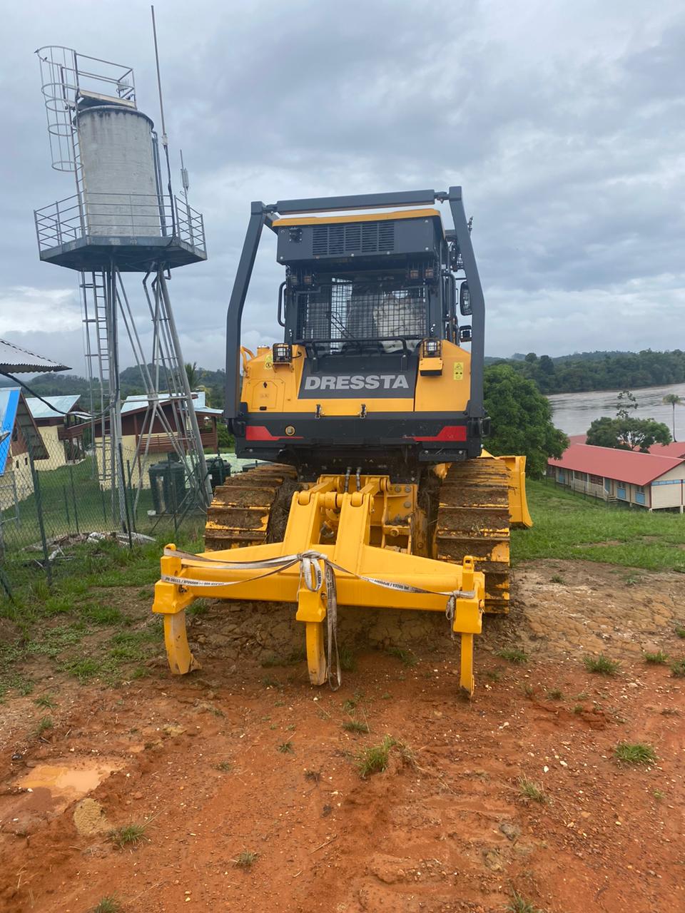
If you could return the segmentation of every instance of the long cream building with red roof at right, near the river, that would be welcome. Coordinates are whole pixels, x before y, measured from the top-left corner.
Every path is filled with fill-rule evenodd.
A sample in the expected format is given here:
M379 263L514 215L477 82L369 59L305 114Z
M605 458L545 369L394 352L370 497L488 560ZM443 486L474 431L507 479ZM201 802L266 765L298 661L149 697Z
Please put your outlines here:
M561 459L547 461L547 475L573 491L624 501L648 510L685 506L685 444L655 445L649 453L596 447L571 438Z

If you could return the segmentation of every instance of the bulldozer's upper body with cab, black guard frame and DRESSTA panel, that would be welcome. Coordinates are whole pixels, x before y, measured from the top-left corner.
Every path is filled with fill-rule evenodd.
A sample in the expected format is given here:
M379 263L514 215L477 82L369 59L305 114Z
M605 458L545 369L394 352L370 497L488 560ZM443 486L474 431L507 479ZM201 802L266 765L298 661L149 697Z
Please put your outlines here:
M277 236L285 270L278 310L283 341L243 356L239 399L235 372L227 372L238 456L295 466L301 478L357 467L398 481L415 479L426 464L479 456L487 431L482 333L474 374L471 352L461 346L470 341L469 328L460 331L457 316L469 313L467 283L478 283L478 275L475 263L470 274L464 267L461 251L472 255L469 226L458 188L452 191L458 221L448 233L434 208L269 215L321 213L326 204L349 210L362 197L253 205L256 233L248 231L241 262L249 268L261 219ZM442 199L433 192L426 197L431 194ZM229 351L239 338L246 277L241 268L229 306Z

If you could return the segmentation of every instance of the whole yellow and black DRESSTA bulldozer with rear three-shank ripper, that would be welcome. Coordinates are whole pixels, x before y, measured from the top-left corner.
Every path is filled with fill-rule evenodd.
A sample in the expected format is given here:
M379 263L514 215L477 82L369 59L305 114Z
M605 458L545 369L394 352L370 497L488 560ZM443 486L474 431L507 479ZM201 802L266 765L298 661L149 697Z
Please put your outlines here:
M240 328L265 226L283 341L253 353ZM164 549L153 612L174 673L198 667L185 609L211 595L294 603L311 683L332 687L339 606L447 614L472 694L482 615L508 610L511 525L531 525L525 457L482 449L484 324L460 187L252 204L226 417L256 465L216 488L203 553Z

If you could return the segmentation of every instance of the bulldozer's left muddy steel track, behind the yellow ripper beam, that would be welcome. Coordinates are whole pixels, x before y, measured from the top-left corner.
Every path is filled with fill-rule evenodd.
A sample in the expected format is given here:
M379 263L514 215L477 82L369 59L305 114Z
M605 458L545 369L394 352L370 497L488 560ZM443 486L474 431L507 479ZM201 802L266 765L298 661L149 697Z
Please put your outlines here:
M298 488L293 467L264 464L218 486L205 526L206 551L223 551L282 539L290 496Z

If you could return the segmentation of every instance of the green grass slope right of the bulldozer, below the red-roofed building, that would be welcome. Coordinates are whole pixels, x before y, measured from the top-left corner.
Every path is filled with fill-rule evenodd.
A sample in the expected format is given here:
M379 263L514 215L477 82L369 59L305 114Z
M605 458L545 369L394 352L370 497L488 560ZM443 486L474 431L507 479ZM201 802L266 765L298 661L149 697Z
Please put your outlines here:
M577 558L685 572L685 523L679 514L626 510L535 479L527 480L526 490L535 522L531 530L511 531L515 563Z

